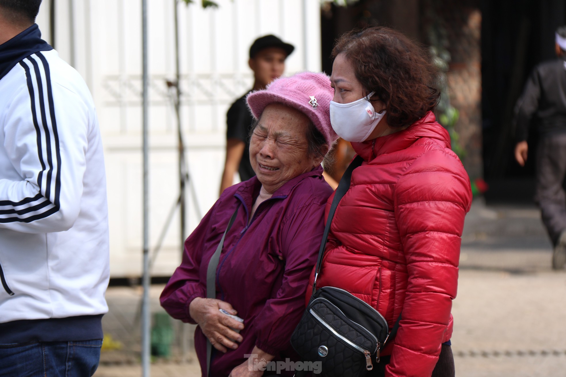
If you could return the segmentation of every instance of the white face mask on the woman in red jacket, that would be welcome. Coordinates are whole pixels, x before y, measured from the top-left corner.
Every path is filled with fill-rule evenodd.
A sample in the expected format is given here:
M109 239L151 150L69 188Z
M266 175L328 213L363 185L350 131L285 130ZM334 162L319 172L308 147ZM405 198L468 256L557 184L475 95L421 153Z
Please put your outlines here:
M338 136L346 141L365 141L379 121L383 119L385 111L376 112L374 106L366 97L350 103L337 103L330 101L330 124Z

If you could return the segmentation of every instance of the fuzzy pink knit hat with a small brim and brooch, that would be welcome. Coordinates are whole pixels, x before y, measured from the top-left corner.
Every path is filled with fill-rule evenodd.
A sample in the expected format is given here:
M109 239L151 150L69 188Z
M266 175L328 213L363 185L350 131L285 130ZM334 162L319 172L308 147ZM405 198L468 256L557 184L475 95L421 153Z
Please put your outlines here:
M330 125L330 101L333 97L334 90L327 75L301 72L280 77L267 88L248 94L246 101L255 119L260 118L263 109L270 103L282 103L301 111L332 146L338 139Z

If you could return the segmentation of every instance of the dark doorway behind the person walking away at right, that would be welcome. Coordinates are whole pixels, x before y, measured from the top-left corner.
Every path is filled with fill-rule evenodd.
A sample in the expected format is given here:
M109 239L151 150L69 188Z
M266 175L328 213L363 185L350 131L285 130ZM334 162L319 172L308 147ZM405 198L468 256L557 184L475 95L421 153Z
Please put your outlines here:
M513 108L531 70L555 58L554 32L566 24L564 0L482 0L482 133L488 202L532 202L536 119L524 168L513 157Z

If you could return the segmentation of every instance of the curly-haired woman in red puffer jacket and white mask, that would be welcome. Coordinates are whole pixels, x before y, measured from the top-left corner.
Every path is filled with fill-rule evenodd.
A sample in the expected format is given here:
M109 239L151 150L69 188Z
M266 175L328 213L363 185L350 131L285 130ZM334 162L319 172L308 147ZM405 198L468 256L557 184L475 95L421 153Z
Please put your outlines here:
M346 289L390 330L401 315L373 375L454 376L451 307L471 189L432 113L436 68L383 27L342 36L333 57L332 127L364 162L336 209L317 288Z

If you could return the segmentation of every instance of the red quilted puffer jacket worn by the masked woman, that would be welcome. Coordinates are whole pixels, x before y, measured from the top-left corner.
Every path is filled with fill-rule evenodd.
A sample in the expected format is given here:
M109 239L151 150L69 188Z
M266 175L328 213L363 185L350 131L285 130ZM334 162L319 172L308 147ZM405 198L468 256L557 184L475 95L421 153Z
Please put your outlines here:
M452 335L470 180L432 112L352 145L365 162L336 209L316 285L353 293L390 329L402 311L395 341L381 352L391 354L386 375L427 377Z

